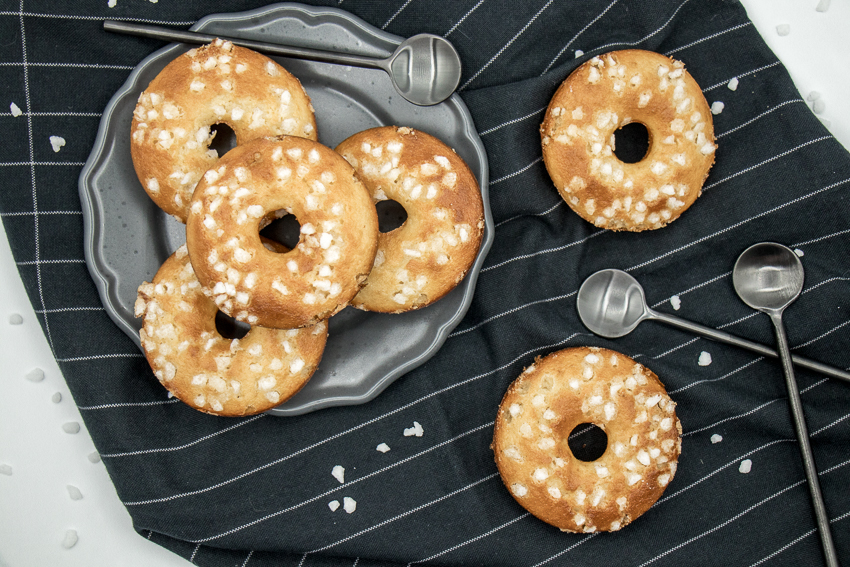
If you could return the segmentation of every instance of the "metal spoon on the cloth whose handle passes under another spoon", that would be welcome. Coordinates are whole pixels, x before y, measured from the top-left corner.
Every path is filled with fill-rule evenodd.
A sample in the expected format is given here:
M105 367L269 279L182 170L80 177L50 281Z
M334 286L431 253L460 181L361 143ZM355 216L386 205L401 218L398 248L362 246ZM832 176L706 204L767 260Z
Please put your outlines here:
M622 270L601 270L584 280L578 291L576 306L582 323L597 335L609 339L625 336L641 321L654 319L677 329L745 348L763 356L779 357L774 349L763 344L653 311L646 304L643 288L638 281ZM791 360L803 368L850 382L850 372L802 356L791 355Z

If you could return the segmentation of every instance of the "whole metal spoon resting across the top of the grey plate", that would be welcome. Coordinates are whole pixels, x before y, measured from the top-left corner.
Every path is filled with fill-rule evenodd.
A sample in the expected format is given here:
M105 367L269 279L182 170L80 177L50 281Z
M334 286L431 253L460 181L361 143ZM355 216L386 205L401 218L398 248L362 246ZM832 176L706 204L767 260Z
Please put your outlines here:
M460 83L460 56L448 40L432 34L414 35L404 40L386 59L334 53L306 47L292 47L264 41L172 30L158 26L106 20L103 29L141 37L182 43L209 43L216 38L269 55L337 63L353 67L383 69L398 93L413 104L431 106L449 98Z

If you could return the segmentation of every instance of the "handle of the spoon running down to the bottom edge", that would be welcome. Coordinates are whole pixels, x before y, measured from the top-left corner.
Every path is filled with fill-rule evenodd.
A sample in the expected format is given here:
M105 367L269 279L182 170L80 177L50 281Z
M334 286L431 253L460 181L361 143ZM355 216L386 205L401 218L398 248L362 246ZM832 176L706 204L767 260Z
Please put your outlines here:
M832 533L829 530L829 516L826 513L826 506L823 503L823 495L818 481L815 458L812 454L812 446L809 443L809 432L806 427L806 417L803 414L803 404L800 401L800 390L797 387L797 380L794 378L794 367L791 365L791 351L788 348L785 326L782 324L782 313L777 311L769 313L769 315L776 329L776 343L779 345L779 358L782 360L782 371L785 374L788 401L791 404L791 415L794 418L794 431L797 433L797 441L800 443L800 451L803 455L803 467L806 470L806 481L815 509L815 519L817 520L824 558L827 567L839 567L838 554L835 551Z

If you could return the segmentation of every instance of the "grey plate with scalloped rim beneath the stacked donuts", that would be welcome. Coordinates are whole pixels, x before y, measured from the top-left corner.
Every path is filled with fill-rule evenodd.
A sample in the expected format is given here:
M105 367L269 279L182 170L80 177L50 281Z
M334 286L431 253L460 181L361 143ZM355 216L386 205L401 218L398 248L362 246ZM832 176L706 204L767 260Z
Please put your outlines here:
M211 34L274 41L374 57L389 56L401 38L347 12L301 4L275 4L207 16L192 28ZM142 61L106 107L94 149L80 175L89 271L112 320L139 344L141 321L133 316L136 289L150 281L185 242L185 227L163 213L139 184L130 158L130 123L139 94L165 65L189 47L169 45ZM461 284L440 301L401 315L344 309L330 320L327 348L316 374L275 415L359 404L419 366L445 341L472 300L478 271L493 241L487 200L484 146L458 95L436 106L415 106L399 96L383 71L277 60L304 85L316 109L319 141L336 147L374 126L410 126L455 149L478 178L486 228L481 251Z

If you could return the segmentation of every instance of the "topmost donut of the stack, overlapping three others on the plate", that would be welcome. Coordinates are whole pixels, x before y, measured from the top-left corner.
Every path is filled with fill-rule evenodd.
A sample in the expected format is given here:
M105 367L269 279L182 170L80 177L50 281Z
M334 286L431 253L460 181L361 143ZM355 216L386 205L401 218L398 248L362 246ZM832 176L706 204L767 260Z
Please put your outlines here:
M300 239L269 250L259 231L295 215ZM295 136L236 146L207 171L186 223L189 257L218 308L250 325L315 325L345 307L375 259L378 215L348 162Z

